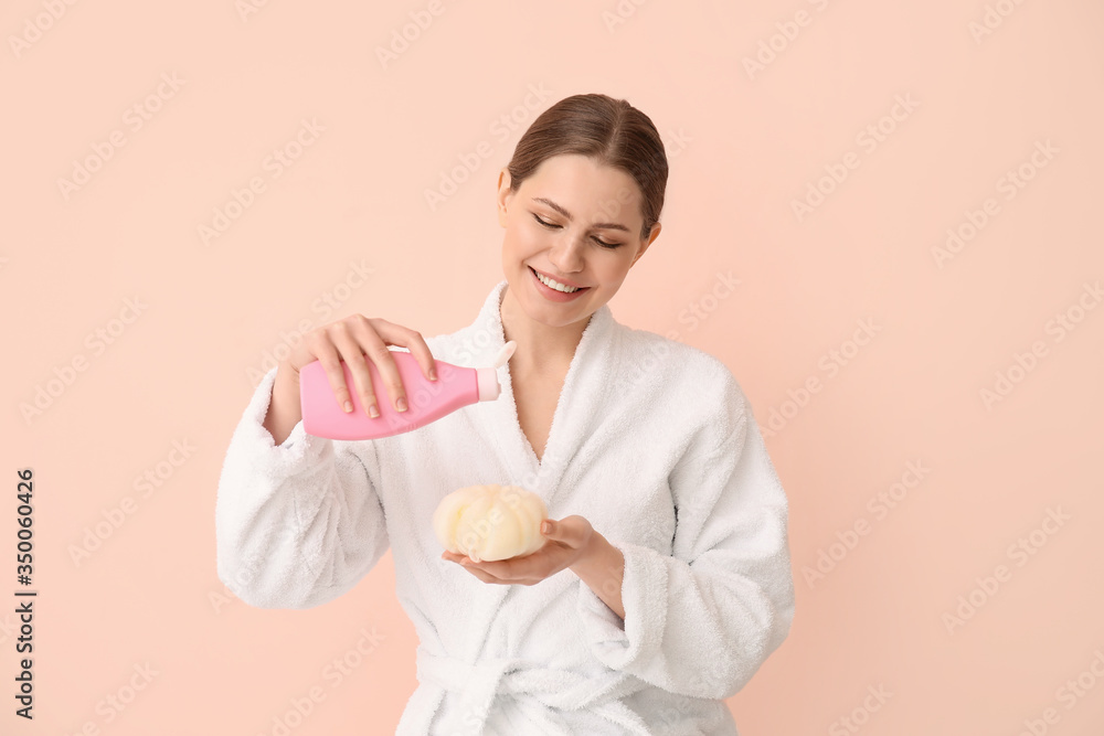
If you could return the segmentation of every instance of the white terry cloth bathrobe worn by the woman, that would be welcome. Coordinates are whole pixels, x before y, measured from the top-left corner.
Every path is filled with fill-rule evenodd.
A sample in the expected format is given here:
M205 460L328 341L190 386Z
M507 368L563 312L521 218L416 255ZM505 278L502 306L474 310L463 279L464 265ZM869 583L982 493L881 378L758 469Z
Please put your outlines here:
M434 358L492 365L506 288L470 326L426 339ZM351 589L390 546L420 640L420 684L397 734L737 734L723 698L788 634L794 580L787 499L721 361L625 327L604 305L541 460L509 364L497 399L418 429L346 441L300 422L279 446L262 424L275 375L225 456L219 577L250 605L310 608ZM486 483L527 488L551 519L580 514L620 550L624 621L571 569L499 585L442 559L434 510Z

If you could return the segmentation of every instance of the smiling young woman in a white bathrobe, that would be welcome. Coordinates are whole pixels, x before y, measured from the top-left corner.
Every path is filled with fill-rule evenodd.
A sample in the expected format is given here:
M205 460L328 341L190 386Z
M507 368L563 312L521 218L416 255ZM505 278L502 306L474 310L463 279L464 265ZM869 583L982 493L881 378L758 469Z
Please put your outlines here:
M736 734L723 698L789 632L787 499L743 392L718 359L606 303L659 235L666 183L646 115L605 95L559 102L499 174L506 279L476 320L428 339L361 314L321 327L234 431L219 577L251 605L309 608L390 546L420 638L399 734ZM434 359L490 365L509 340L493 402L378 440L302 430L298 370L314 360L339 403L357 391L403 410L388 345L433 380ZM545 500L540 551L443 552L440 499L485 483Z

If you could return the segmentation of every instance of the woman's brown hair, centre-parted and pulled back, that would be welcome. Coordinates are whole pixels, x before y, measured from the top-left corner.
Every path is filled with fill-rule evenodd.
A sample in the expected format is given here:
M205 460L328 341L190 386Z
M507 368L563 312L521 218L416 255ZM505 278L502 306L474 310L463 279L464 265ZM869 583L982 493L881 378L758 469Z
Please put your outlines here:
M659 222L667 188L667 153L651 119L624 99L602 94L564 97L541 113L518 141L507 166L510 191L516 193L545 159L564 153L586 156L633 177L644 200L640 237L647 238Z

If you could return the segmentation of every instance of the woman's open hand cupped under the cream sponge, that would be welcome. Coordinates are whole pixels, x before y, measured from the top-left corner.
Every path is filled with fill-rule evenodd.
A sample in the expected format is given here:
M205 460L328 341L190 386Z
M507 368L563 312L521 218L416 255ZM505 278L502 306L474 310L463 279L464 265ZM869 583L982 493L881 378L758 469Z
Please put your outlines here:
M544 524L551 524L551 530L544 532ZM590 546L594 527L575 514L560 521L544 520L541 533L546 540L544 546L522 557L477 563L467 555L453 554L448 550L440 557L460 564L484 583L535 585L578 562Z

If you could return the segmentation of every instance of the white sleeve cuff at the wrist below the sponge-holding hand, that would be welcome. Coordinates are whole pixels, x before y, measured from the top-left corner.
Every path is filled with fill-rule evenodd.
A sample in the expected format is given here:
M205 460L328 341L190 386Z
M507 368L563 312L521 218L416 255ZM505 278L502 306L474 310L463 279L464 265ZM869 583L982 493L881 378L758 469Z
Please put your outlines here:
M625 620L582 580L575 608L592 653L606 666L624 670L638 660L649 660L662 647L668 606L667 564L650 547L609 543L625 555L622 578Z

